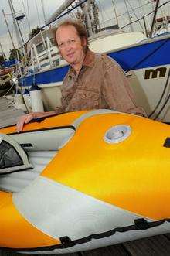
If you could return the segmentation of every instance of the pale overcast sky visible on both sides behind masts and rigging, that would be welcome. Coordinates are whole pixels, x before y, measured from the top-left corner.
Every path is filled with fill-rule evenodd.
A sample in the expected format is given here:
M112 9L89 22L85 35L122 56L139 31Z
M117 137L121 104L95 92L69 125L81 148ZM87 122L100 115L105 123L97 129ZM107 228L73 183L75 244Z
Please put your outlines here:
M167 2L168 0L161 0L160 2ZM64 2L64 0L12 0L12 3L14 5L15 12L22 11L26 14L26 17L22 20L22 22L19 22L22 35L25 39L28 39L29 32L36 28L37 26L43 26L44 25L44 16L42 12L42 2L45 9L46 19L49 19L49 17L53 14L53 12L56 11L56 9ZM151 0L129 0L129 2L133 8L138 7L139 3L142 2L143 4L146 4L148 2L151 2ZM114 3L117 8L117 15L121 15L122 13L126 12L124 0L114 0ZM113 20L114 17L114 9L113 5L111 3L111 0L97 0L97 4L100 9L105 9L105 12L102 12L102 17L104 17L104 20ZM170 5L170 4L169 4ZM145 12L151 11L151 5L147 5L147 9L145 9ZM169 12L168 7L168 11ZM5 25L5 19L2 15L2 9L5 12L5 17L8 21L8 26L10 29L10 32L12 33L12 38L15 41L15 31L14 26L12 24L12 15L10 14L10 9L8 5L8 0L0 0L0 43L2 44L2 49L5 52L5 55L8 56L9 49L12 49L12 42L10 40L10 37L8 36L8 29ZM128 9L131 9L130 5L128 5ZM139 12L139 11L138 11ZM169 15L169 13L166 13ZM139 15L139 13L138 13ZM134 14L131 12L132 20L135 19ZM110 24L107 23L107 26ZM121 26L124 25L124 19L121 19ZM140 28L138 28L140 29ZM17 47L17 45L16 45ZM1 52L1 49L0 49Z

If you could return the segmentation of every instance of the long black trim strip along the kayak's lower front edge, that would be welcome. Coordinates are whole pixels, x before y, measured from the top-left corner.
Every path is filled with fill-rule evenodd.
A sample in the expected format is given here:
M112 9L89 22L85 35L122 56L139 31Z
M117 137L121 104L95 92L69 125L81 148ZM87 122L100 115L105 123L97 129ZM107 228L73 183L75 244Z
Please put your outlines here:
M114 235L116 232L124 233L128 232L131 230L148 230L149 228L152 227L158 227L165 222L170 223L170 219L163 219L163 220L157 220L157 221L151 221L148 222L145 219L137 219L134 220L134 225L131 226L126 226L126 227L116 227L113 230L106 231L104 233L100 234L91 234L88 237L83 237L77 240L72 241L70 237L59 237L61 244L56 244L52 246L46 246L46 247L35 247L35 248L9 248L9 247L0 247L0 250L8 250L8 251L53 251L55 249L65 249L68 247L73 247L76 244L85 244L92 239L101 239L101 238L106 238Z

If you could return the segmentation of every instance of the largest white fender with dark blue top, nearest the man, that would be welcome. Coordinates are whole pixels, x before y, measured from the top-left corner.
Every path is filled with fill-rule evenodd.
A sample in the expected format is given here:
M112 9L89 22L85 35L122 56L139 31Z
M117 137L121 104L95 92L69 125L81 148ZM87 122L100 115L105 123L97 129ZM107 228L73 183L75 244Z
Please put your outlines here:
M36 83L32 84L32 87L30 89L30 95L31 95L32 111L43 112L44 108L43 108L41 88Z

